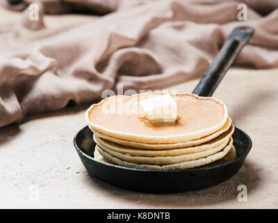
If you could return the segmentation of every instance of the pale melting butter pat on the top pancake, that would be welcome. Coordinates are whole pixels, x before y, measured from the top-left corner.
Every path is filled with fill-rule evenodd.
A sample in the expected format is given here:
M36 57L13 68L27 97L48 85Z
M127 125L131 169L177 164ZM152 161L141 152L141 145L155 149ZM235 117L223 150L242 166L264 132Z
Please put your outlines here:
M177 104L170 94L140 100L139 104L149 121L173 122L177 118Z

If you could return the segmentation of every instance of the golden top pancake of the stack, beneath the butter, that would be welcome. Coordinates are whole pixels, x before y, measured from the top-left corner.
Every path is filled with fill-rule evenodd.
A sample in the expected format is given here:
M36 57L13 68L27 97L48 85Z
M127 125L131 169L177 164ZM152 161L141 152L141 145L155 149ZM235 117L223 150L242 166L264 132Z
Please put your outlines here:
M92 105L86 120L92 130L117 139L142 143L169 144L199 139L220 130L227 121L227 107L215 98L190 93L171 95L177 102L179 122L155 126L142 121L139 101L161 95L151 92L116 95Z

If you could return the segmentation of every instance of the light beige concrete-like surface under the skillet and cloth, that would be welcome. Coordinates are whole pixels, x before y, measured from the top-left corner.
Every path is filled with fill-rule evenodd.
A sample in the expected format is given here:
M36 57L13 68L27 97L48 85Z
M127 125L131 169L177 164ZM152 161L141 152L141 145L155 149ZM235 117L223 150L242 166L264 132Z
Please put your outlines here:
M0 8L0 24L19 18ZM95 17L45 19L54 27ZM191 92L197 81L169 89ZM143 194L90 178L72 145L85 126L85 105L0 129L0 208L278 208L278 69L232 68L213 96L253 141L242 169L226 182L195 192ZM247 186L246 202L237 199L238 185Z

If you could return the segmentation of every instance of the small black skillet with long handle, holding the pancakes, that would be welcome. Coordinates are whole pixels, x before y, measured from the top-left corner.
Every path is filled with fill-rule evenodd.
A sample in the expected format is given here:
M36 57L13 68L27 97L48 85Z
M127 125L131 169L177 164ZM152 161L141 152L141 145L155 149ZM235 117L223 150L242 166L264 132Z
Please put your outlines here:
M253 33L254 29L249 26L240 26L234 29L193 93L204 97L211 96ZM232 137L237 157L234 160L177 171L142 170L95 160L93 154L96 144L92 135L91 130L85 127L74 137L74 147L90 175L111 185L141 192L181 192L222 183L238 172L252 147L250 137L242 130L235 128Z

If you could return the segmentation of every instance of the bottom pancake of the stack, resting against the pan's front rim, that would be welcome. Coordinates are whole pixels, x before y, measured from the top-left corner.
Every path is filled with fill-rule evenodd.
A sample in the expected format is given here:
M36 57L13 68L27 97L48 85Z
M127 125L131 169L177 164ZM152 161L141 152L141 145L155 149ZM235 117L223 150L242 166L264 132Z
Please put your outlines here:
M191 160L186 162L179 162L176 164L166 164L166 165L155 165L155 164L137 164L134 162L126 162L124 160L120 160L106 151L101 150L99 146L96 146L96 149L99 151L100 155L102 155L109 162L113 162L114 164L120 165L122 167L136 168L136 169L149 169L149 170L159 170L159 171L172 171L179 169L191 169L196 167L202 167L206 164L210 164L211 162L215 162L216 160L220 160L222 157L227 155L232 147L232 140L229 144L223 148L222 151L215 153L213 155L209 155L208 157L201 158L199 160Z

